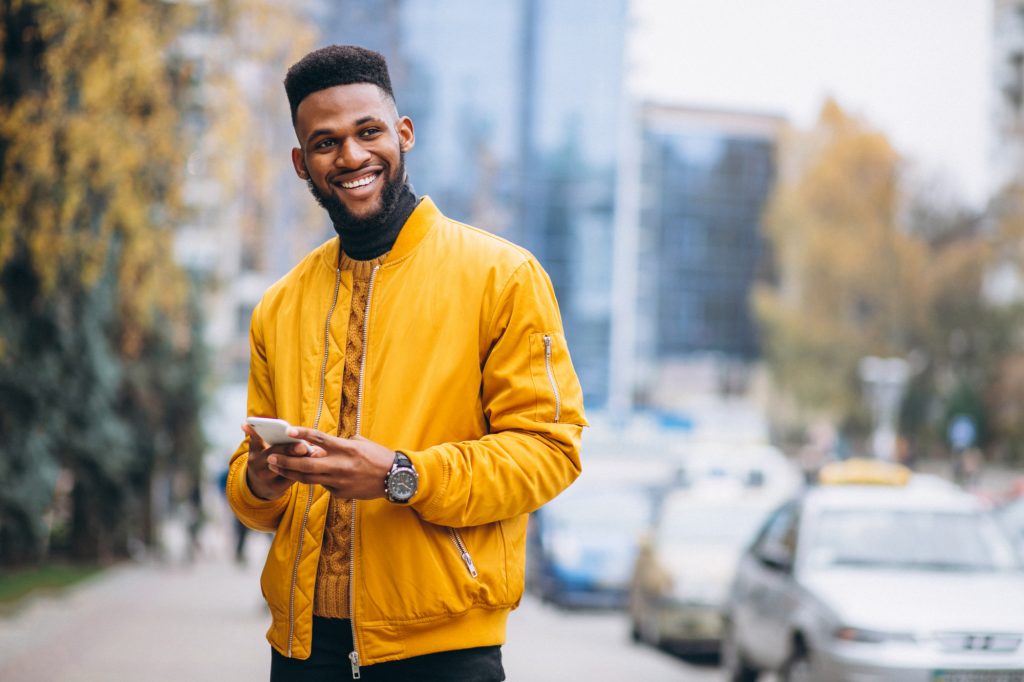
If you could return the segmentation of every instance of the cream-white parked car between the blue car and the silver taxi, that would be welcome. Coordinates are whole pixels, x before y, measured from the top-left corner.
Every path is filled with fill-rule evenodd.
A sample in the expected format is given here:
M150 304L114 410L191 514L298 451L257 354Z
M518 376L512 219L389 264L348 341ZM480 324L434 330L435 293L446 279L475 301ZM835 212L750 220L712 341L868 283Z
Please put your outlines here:
M633 570L633 639L679 652L717 653L739 555L778 502L723 481L667 496Z

